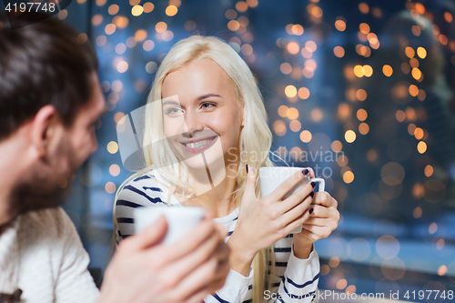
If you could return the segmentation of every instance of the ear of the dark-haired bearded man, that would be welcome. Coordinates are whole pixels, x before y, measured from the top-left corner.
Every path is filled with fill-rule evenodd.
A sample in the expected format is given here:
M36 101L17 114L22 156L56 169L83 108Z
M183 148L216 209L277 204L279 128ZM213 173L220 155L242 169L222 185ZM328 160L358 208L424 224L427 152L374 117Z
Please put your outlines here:
M40 156L45 155L56 131L58 114L56 107L43 106L32 120L31 141Z

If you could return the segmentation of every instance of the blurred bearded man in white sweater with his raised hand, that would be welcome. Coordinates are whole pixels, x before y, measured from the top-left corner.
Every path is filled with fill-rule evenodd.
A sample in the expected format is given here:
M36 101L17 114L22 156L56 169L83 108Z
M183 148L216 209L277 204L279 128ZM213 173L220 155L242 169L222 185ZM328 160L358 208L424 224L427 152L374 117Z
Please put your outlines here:
M25 16L0 26L0 302L189 303L221 288L229 270L222 228L207 217L162 245L161 218L122 241L98 292L58 207L96 150L94 124L105 111L96 55L56 18Z

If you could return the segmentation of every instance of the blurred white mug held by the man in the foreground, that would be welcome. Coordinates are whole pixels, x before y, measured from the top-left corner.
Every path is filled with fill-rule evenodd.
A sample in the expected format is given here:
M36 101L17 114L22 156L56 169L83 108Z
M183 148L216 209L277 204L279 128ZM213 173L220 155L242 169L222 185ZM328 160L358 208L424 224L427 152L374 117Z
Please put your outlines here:
M161 215L167 220L167 234L163 244L174 243L187 235L206 216L201 207L138 207L134 210L135 232L138 233L155 223Z

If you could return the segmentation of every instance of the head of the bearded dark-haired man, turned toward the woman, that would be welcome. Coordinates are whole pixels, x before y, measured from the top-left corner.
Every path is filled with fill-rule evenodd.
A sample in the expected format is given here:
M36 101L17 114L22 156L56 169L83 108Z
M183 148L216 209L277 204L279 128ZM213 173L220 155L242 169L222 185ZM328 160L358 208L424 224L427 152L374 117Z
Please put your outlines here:
M12 22L40 18L25 15L29 21ZM8 217L60 205L96 150L94 124L105 110L96 69L92 46L56 18L0 30L0 150L4 167L21 170L0 198ZM0 179L7 175L0 171Z

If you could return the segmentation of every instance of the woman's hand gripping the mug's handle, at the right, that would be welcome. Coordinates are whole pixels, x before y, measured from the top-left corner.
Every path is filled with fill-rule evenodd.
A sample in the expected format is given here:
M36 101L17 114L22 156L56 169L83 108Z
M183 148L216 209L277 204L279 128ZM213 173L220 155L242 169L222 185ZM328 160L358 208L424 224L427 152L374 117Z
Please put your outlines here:
M315 193L308 212L309 218L302 226L302 231L294 235L294 254L297 258L308 258L313 243L323 237L329 237L338 227L338 202L323 191Z

